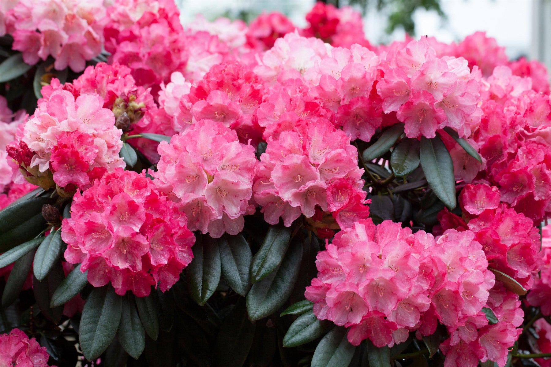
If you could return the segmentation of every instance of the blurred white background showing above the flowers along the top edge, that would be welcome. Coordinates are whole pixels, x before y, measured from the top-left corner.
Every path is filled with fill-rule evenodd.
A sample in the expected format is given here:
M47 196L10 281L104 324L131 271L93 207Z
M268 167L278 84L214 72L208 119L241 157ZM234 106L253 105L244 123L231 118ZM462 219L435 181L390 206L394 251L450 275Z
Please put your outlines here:
M366 37L372 43L401 40L402 30L385 33L388 13L377 12L375 0L368 0L364 17ZM243 12L258 14L278 10L298 26L314 0L176 0L183 24L197 14L209 20L220 16L239 17ZM341 0L341 6L347 0ZM435 12L417 10L413 19L417 36L435 36L442 42L458 41L475 31L486 31L504 46L507 56L538 59L551 69L551 0L441 0L447 19Z

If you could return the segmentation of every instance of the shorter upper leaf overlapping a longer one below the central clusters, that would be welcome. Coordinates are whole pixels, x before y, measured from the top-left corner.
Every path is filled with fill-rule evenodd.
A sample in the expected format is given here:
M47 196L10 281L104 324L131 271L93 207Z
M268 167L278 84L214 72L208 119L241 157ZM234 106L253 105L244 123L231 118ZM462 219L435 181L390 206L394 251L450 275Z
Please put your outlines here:
M271 273L280 264L289 246L291 228L283 223L268 228L262 246L252 258L251 281L258 282Z

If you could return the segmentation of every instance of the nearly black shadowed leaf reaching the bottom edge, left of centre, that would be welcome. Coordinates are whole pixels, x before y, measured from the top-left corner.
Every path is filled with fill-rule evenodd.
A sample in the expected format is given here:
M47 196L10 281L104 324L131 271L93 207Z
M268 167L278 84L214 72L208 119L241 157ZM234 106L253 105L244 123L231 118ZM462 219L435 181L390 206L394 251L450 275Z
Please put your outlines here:
M215 365L241 367L249 355L255 336L255 324L247 319L247 310L242 299L226 316L214 347Z

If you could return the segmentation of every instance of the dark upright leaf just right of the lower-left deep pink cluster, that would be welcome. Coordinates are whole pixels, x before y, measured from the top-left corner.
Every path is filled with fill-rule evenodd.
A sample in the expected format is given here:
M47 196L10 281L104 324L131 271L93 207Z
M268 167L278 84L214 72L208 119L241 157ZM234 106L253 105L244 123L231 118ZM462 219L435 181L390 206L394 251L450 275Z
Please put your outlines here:
M204 305L220 282L220 250L217 240L208 234L198 235L192 250L193 261L186 267L187 284L193 300Z

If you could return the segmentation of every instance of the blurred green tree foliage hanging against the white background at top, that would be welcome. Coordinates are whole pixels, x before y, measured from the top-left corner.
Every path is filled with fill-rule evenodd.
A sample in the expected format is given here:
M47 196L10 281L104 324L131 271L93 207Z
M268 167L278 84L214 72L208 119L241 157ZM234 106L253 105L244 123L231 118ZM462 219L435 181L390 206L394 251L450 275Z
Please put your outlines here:
M343 1L339 0L321 0L325 3L331 3L334 6L342 6ZM446 18L446 14L440 7L440 0L349 0L350 5L360 6L364 13L372 5L376 6L378 12L390 12L388 16L388 24L385 31L391 34L399 28L403 28L409 35L415 35L415 23L413 21L413 13L415 10L424 8L427 11L434 10L442 19Z

